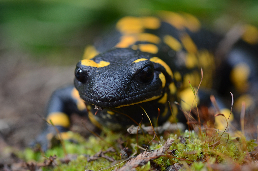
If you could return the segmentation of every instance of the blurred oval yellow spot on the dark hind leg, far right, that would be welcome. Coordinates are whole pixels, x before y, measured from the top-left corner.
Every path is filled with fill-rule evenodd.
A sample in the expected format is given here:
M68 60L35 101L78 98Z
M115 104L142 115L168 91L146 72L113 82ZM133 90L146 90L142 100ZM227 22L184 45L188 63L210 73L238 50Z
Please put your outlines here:
M250 72L251 69L246 63L240 63L232 69L230 79L239 92L246 92L248 90Z

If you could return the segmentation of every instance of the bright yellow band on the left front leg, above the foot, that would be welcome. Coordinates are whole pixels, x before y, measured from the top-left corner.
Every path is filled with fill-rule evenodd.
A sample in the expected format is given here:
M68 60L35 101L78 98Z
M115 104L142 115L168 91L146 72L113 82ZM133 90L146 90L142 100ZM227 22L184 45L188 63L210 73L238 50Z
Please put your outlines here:
M70 126L69 117L63 112L51 112L46 120L50 124L52 122L55 126L63 126L66 128ZM51 122L49 120L51 120Z

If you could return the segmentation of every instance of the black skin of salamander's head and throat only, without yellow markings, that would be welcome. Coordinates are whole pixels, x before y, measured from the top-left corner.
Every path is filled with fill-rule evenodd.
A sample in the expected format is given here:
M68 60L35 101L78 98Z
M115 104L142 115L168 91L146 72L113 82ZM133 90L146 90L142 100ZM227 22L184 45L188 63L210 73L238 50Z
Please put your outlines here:
M92 59L96 63L101 60L108 61L110 62L108 66L97 68L81 65L80 62L77 63L75 69L77 77L74 80L75 87L85 102L100 109L95 119L101 125L112 130L118 130L132 125L133 120L137 123L141 121L144 112L140 106L146 110L150 118L158 116L158 108L160 113L163 113L165 107L168 107L168 103L160 104L158 100L165 92L169 94L167 87L173 81L171 76L158 63L153 63L149 60L133 63L133 61L140 58L150 59L151 56L132 49L117 48ZM162 81L159 79L160 73L166 76L166 86L164 88L162 88ZM160 98L130 105L153 96L160 96ZM116 108L120 105L129 106ZM107 118L105 117L107 115L106 110L101 110L105 108L117 112ZM92 109L92 112L95 113L96 110ZM129 115L133 120L121 113ZM160 116L159 123L167 120L170 115L171 113L168 111L165 115ZM144 116L143 122L149 122L146 116ZM119 123L121 126L114 126L111 123Z

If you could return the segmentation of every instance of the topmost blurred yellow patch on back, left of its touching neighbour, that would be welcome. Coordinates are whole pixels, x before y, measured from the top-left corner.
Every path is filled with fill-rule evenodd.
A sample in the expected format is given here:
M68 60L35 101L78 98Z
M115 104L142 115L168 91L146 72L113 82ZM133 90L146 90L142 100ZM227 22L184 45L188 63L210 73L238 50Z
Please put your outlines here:
M171 24L173 27L179 30L184 29L184 26L186 26L186 19L178 13L170 11L161 11L160 15L165 22Z

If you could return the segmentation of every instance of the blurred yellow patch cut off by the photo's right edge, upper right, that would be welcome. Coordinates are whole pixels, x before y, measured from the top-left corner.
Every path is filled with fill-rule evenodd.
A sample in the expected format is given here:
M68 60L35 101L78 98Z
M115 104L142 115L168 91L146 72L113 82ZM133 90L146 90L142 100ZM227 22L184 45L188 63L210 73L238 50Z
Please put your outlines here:
M258 28L252 25L246 25L242 39L249 44L258 43Z

